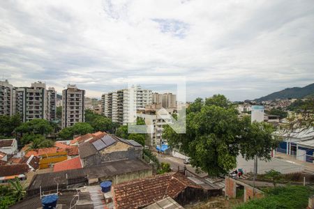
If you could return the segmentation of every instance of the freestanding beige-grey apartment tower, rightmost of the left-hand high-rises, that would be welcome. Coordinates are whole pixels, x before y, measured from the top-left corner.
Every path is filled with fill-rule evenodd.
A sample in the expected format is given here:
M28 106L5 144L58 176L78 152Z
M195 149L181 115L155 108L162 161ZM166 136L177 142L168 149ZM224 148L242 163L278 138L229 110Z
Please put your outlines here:
M62 128L85 121L84 95L85 91L78 89L76 85L69 84L62 91Z

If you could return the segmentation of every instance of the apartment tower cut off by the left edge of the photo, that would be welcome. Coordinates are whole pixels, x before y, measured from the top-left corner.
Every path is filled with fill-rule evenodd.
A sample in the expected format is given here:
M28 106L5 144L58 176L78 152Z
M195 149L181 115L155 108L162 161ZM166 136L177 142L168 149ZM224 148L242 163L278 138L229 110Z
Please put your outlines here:
M12 116L15 114L15 89L13 85L0 81L0 115Z

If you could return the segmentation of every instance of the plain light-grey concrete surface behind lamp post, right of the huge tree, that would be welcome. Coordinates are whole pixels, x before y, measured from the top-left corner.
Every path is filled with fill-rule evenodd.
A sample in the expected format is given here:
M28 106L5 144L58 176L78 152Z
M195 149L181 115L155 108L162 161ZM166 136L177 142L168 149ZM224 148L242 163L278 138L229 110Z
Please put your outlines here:
M246 161L242 156L237 157L237 169L243 169L244 173L253 172L254 161ZM257 173L265 173L274 169L281 173L299 173L304 171L304 166L300 164L295 164L293 162L287 162L285 160L280 160L277 158L271 158L269 162L258 160L257 162Z

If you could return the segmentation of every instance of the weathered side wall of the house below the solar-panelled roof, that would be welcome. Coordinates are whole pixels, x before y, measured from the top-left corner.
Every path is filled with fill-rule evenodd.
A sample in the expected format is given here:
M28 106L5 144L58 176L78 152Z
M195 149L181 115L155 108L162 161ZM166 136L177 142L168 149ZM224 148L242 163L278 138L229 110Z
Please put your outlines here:
M103 164L108 161L142 159L142 147L134 147L117 142L117 144L100 150L96 155L82 159L84 167Z

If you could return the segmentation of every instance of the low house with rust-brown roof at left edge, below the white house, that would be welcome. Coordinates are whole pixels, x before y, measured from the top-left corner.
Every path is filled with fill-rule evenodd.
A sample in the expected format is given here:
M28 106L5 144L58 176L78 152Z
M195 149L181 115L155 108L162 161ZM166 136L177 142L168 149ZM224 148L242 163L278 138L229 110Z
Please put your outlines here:
M0 183L7 183L8 180L15 177L20 180L26 179L26 173L29 172L29 166L27 164L11 164L0 166Z

